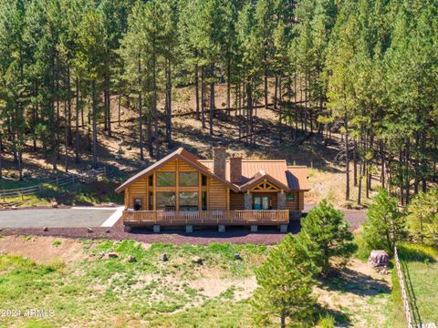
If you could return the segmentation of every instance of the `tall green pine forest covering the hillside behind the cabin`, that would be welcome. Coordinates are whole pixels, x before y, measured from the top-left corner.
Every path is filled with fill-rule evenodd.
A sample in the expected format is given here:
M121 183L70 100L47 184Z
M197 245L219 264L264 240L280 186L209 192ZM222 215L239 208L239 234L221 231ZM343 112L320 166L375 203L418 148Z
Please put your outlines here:
M224 115L256 145L261 110L283 145L340 133L346 199L379 175L408 203L437 179L437 89L433 0L3 0L0 177L5 155L20 178L24 153L99 166L127 111L139 159L160 159L193 97L218 138Z

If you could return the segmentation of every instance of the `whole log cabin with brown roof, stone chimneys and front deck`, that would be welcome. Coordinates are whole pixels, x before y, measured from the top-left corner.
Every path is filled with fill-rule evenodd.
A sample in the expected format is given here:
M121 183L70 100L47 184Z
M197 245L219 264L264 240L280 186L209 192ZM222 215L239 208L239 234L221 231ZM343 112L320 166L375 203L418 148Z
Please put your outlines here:
M226 225L278 226L287 231L299 219L308 191L308 169L286 160L226 158L213 149L213 160L198 159L185 149L157 161L116 189L124 191L125 230L131 227Z

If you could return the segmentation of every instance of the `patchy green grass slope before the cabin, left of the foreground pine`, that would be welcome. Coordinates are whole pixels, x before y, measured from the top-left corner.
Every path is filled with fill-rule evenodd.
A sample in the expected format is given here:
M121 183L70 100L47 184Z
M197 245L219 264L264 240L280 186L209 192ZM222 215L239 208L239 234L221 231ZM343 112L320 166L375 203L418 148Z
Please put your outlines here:
M86 248L91 246L84 242ZM102 251L117 251L120 258L99 260ZM160 260L163 251L169 257L165 263ZM236 251L244 261L235 260ZM238 288L231 286L206 297L190 282L207 272L216 272L218 278L245 279L263 259L266 246L155 244L144 250L134 241L104 241L90 247L88 253L88 260L73 266L0 256L2 308L53 309L55 317L39 320L42 326L193 326L207 322L212 326L248 326L249 305L245 300L233 301ZM190 260L193 254L203 257L203 266ZM128 255L135 256L137 262L125 261ZM12 323L34 324L24 317L5 319L6 325Z

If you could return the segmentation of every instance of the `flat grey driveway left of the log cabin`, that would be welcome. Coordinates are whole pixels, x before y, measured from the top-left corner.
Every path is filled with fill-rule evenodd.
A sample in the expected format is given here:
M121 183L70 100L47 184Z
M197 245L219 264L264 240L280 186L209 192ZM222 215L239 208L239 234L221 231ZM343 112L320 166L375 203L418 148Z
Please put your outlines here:
M117 209L70 208L0 210L0 228L86 228L99 227Z

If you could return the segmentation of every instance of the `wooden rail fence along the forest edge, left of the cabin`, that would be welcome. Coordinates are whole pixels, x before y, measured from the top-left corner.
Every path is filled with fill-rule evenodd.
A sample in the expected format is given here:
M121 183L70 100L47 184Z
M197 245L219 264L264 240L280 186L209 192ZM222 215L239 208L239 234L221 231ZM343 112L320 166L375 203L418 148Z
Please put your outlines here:
M47 186L50 186L52 188L59 188L67 187L68 185L72 185L78 182L89 184L97 181L100 176L105 176L106 172L107 169L105 167L99 169L90 169L89 171L82 174L69 174L68 176L64 177L49 179L45 182L37 184L36 186L16 188L12 190L0 190L0 199L3 199L5 201L6 198L24 198L25 196L30 195L41 196L43 190L47 188Z

